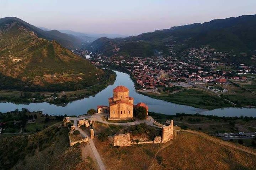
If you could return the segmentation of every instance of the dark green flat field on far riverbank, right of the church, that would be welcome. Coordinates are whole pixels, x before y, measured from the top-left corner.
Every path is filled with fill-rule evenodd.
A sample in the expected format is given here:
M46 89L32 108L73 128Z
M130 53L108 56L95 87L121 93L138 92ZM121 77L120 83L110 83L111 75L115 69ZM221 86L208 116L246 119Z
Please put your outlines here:
M223 98L220 98L217 95L201 89L187 89L171 95L160 95L155 93L146 93L145 95L168 102L185 104L188 106L209 110L233 106L231 103L225 101Z

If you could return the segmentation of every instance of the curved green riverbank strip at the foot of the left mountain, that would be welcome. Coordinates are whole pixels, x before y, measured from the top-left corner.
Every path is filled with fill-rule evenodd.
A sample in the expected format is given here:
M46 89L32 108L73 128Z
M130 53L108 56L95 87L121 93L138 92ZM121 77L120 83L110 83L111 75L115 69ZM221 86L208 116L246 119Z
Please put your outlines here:
M47 102L51 104L63 104L85 97L94 96L105 89L108 85L114 84L116 80L116 73L112 70L106 69L105 72L105 78L100 83L76 91L30 92L1 90L0 102L13 102L17 104Z

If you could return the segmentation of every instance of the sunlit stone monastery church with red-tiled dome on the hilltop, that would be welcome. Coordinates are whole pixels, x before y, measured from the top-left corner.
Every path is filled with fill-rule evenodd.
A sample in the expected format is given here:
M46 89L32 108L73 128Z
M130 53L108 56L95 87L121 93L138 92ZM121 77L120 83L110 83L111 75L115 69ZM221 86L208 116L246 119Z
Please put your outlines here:
M108 98L109 106L97 106L98 113L108 113L108 120L134 119L133 109L144 107L148 115L148 106L145 103L133 104L133 97L129 97L129 89L117 86L113 89L113 97Z

